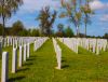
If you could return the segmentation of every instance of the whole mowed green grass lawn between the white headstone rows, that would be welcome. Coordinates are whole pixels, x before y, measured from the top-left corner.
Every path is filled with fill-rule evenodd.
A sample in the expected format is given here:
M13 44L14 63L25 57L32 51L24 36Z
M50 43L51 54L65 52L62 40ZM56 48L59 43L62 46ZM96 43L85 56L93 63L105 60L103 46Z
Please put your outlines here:
M9 51L10 56L9 82L108 82L108 52L95 55L79 47L79 54L76 54L62 42L57 42L63 52L62 70L55 69L56 55L51 39L36 52L31 44L30 58L14 74L11 73L12 46L3 49Z

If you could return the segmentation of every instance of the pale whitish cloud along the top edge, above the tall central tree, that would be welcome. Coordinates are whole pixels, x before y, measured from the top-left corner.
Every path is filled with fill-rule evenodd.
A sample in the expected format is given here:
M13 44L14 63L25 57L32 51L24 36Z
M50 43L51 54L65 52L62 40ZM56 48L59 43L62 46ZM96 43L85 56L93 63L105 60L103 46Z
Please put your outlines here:
M60 3L59 0L24 0L24 4L21 8L21 13L39 11L44 6L51 6L52 9L56 10L60 6Z

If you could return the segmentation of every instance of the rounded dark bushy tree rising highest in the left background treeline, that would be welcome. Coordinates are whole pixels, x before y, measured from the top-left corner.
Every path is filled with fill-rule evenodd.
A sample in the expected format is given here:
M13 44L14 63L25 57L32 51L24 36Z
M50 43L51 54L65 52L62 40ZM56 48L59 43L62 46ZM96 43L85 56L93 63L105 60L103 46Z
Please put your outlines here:
M21 31L24 30L24 25L21 20L17 20L12 26L12 35L18 36Z

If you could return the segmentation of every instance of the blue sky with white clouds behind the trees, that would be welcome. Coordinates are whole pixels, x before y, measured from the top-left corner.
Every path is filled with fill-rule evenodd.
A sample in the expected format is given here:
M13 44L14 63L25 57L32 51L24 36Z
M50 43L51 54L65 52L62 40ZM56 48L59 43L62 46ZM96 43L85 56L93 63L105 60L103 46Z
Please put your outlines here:
M59 0L24 0L24 4L6 22L6 26L12 26L16 20L22 20L26 28L39 28L39 22L35 18L39 15L39 11L48 5L60 13ZM90 5L95 14L91 16L92 24L87 26L87 35L103 36L108 32L108 0L93 0ZM71 26L76 32L76 27L67 18L56 18L53 26L54 30L57 30L56 26L59 23L63 23L65 27ZM80 31L84 33L84 25L80 26Z

